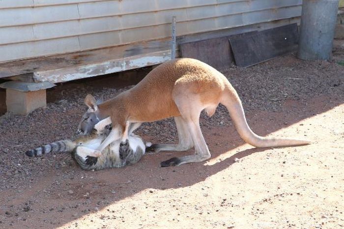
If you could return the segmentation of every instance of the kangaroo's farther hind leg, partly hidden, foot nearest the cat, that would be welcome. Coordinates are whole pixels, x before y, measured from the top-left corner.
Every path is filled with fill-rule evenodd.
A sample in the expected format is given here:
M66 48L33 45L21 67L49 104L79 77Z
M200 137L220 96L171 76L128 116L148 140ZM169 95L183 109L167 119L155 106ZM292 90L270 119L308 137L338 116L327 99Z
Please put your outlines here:
M187 151L194 146L189 133L186 121L181 117L174 117L178 132L178 144L152 144L146 148L146 151L157 153L159 151Z

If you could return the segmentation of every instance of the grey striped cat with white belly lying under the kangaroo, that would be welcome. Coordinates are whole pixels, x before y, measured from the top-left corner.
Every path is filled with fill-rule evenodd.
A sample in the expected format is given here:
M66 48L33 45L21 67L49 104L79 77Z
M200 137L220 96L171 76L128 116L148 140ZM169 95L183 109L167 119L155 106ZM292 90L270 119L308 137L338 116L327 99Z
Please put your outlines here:
M107 120L103 120L105 121ZM72 158L84 170L102 170L132 165L143 157L146 147L144 141L133 134L138 127L139 125L134 124L127 128L126 141L115 140L104 148L101 155L94 154L94 149L100 146L112 129L109 125L102 125L102 121L95 125L95 129L88 136L81 136L74 141L62 140L50 143L26 151L25 154L29 157L37 157L50 152L71 152Z

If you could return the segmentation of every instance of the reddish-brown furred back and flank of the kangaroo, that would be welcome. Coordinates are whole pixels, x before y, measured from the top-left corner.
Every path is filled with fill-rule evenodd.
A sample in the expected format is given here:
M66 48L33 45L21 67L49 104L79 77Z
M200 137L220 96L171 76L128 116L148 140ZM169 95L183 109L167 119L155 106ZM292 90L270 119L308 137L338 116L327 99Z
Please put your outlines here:
M154 68L138 85L99 108L113 107L118 112L118 107L124 106L131 122L151 122L180 115L174 101L178 90L187 89L206 99L219 96L225 84L228 80L211 66L191 58L175 59ZM114 101L116 105L111 104Z

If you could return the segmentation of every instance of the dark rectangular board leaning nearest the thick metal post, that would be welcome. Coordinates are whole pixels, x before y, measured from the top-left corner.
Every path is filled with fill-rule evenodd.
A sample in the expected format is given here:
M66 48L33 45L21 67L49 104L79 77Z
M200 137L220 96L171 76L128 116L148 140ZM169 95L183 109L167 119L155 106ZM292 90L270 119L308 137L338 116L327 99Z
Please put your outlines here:
M230 36L236 65L248 67L297 50L297 24Z

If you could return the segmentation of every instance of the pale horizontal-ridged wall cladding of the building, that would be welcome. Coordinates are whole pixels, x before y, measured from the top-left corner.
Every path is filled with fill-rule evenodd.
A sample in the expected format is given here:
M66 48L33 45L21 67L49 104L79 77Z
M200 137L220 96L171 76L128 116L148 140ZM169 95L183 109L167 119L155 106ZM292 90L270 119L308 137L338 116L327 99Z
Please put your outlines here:
M302 0L0 0L0 62L298 17Z

